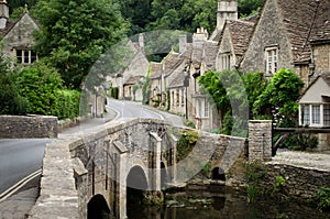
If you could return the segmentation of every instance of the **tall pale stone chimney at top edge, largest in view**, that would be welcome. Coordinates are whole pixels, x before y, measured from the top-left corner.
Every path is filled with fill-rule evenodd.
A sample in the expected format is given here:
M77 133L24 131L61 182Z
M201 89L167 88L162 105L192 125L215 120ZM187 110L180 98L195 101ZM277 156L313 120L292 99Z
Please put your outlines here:
M217 30L222 30L226 20L238 20L238 0L219 0L217 13Z

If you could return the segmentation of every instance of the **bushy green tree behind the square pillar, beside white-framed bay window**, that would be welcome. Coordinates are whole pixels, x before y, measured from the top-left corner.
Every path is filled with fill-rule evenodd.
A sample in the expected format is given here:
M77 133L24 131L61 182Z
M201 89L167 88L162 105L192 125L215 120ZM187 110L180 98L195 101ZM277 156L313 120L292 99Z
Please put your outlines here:
M254 102L254 113L271 117L277 127L296 125L302 87L302 80L293 70L279 69Z

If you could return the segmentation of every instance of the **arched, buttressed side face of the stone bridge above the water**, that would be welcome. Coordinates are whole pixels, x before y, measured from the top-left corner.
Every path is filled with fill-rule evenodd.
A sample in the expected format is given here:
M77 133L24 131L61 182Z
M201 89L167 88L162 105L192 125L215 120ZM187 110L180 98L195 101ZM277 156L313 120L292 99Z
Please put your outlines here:
M161 163L175 165L172 147L176 146L177 140L167 133L167 128L168 124L160 120L111 122L72 146L72 155L79 166L76 169L80 169L76 171L75 177L81 218L87 213L84 206L87 208L88 201L98 194L103 196L116 218L125 218L127 195L131 191L128 188L161 190ZM174 174L172 168L166 180L173 179ZM138 176L135 180L133 176ZM138 184L131 185L130 178Z

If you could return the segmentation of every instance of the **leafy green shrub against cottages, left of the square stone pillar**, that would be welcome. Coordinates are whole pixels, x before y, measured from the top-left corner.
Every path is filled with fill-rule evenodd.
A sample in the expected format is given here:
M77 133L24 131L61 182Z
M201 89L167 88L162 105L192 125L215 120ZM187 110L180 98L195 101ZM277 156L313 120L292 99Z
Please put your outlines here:
M249 100L241 75L234 70L209 70L200 76L201 92L215 102L222 125L221 133L246 136Z

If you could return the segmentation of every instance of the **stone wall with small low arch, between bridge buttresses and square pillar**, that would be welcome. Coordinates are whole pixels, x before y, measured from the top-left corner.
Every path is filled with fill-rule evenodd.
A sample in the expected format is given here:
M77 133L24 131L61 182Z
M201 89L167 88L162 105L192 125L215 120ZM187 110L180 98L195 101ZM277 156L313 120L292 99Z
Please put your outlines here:
M226 185L243 186L245 184L246 172L245 163L248 161L248 139L230 136L223 134L212 134L208 132L198 132L198 141L191 156L190 164L204 172L204 176L211 178L211 171L216 167L223 169L226 175ZM196 162L197 161L197 162ZM208 169L202 165L209 165ZM180 166L179 164L177 166ZM206 173L208 171L208 173ZM178 174L180 169L177 169ZM201 174L191 177L189 184L208 184Z

